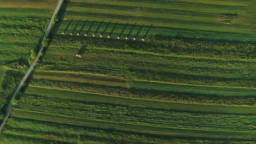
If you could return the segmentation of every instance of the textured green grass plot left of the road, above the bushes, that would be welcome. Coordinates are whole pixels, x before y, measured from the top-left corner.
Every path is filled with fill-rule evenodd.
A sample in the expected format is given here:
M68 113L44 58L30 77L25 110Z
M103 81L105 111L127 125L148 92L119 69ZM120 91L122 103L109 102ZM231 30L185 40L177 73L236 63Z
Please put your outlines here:
M0 21L0 61L11 63L21 57L32 61L49 20L0 17Z

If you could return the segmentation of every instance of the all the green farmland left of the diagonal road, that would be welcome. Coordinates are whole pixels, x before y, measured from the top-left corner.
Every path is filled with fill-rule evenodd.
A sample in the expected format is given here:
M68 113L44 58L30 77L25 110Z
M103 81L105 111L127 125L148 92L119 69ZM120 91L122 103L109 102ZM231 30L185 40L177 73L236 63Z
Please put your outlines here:
M0 120L38 51L55 5L55 0L0 1Z

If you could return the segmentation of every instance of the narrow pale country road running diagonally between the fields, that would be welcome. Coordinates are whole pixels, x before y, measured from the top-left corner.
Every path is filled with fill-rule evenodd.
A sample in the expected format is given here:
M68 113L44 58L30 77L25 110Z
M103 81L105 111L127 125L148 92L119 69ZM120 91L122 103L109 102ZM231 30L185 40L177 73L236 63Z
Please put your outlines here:
M59 12L60 7L61 7L63 1L64 1L64 0L59 0L59 2L58 2L58 4L57 4L57 7L56 7L55 10L54 10L54 14L53 14L53 16L51 17L51 20L50 20L50 22L49 22L49 25L48 25L48 27L47 27L45 33L44 33L44 38L45 38L46 36L48 36L48 34L50 33L51 28L52 28L53 25L54 25L54 23L53 23L53 22L54 22L54 17L55 17L55 15ZM18 92L20 91L20 88L24 85L24 82L27 80L28 76L31 74L32 70L34 69L34 66L36 66L36 63L37 63L37 61L38 61L38 59L39 59L39 57L40 57L40 55L41 55L43 49L44 49L44 46L43 46L43 44L41 43L41 44L40 44L40 47L39 47L39 52L37 53L37 57L34 59L33 63L30 65L30 68L28 69L27 73L25 74L25 76L24 76L23 79L21 80L19 86L16 88L15 92L13 93L13 95L12 95L12 97L11 97L10 103L9 103L9 105L8 105L8 107L7 107L7 110L5 111L4 118L3 118L3 120L2 120L2 122L1 122L1 124L0 124L0 131L3 129L5 123L6 123L8 117L9 117L9 115L10 115L11 108L13 107L13 103L12 103L11 101L13 101L13 99L15 98L15 96L16 96L16 95L18 94Z

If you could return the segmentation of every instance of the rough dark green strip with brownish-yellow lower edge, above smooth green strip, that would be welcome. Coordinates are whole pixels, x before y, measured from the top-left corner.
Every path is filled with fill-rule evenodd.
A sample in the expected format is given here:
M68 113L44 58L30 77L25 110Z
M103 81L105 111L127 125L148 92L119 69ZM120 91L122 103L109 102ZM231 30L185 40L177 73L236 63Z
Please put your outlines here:
M89 83L79 83L59 80L33 79L31 86L54 89L66 89L69 91L97 93L103 95L113 95L115 97L133 98L143 100L165 101L172 103L187 104L214 104L214 105L249 105L256 104L256 98L248 97L216 97L193 94L181 94L172 92L149 91L147 89L134 89L113 86L92 85Z

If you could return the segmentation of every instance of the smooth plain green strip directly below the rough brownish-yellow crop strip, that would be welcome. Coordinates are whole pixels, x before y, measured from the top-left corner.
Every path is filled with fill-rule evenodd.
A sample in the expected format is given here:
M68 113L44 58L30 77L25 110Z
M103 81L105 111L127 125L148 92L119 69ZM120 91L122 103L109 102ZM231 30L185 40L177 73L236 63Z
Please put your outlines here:
M235 115L256 115L255 106L220 106L220 105L196 105L182 103L166 103L160 101L128 99L112 97L108 95L82 93L66 91L61 89L50 89L42 87L28 87L26 95L33 95L47 98L57 98L66 100L91 101L102 104L123 105L130 107L139 107L147 109L159 109L181 112L199 112L199 113L227 113Z

